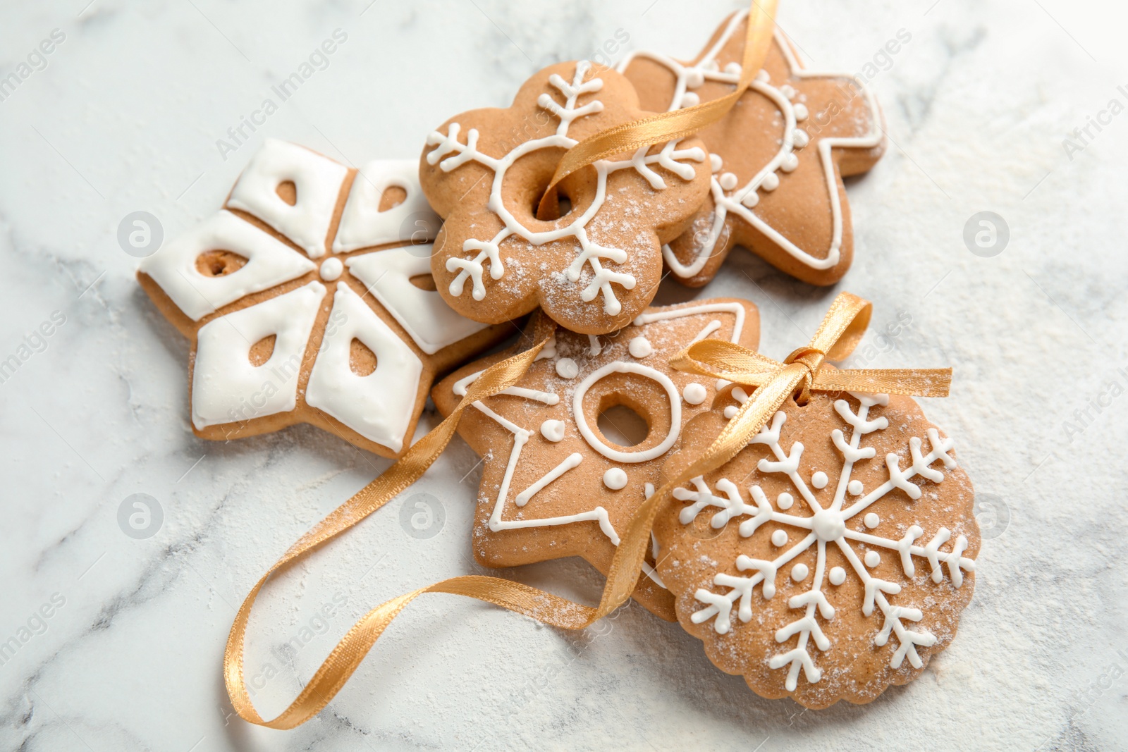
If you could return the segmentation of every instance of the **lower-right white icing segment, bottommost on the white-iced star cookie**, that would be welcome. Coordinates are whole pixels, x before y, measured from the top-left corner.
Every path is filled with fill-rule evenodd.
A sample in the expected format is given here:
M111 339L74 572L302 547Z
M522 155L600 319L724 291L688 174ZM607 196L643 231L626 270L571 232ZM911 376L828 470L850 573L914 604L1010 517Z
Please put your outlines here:
M306 387L306 402L394 452L403 449L415 413L423 363L395 331L343 282L333 297L332 321ZM349 365L352 340L376 355L376 370L356 375Z

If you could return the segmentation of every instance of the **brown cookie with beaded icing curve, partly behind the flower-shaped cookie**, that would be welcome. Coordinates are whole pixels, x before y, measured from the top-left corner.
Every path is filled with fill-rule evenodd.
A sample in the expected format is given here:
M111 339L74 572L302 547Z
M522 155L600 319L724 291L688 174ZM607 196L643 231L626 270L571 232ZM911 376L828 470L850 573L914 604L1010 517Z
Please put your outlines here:
M619 68L642 106L679 109L732 91L747 17L726 19L691 63L653 52L625 59ZM804 282L840 280L854 254L843 177L869 170L884 150L864 81L804 70L777 30L756 81L699 136L712 152L712 189L693 225L663 247L673 275L703 285L740 245Z

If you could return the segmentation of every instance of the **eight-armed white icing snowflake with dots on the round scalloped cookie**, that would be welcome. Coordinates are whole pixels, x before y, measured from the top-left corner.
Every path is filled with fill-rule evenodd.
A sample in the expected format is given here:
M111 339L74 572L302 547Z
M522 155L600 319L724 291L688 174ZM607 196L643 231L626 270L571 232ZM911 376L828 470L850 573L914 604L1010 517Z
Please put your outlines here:
M937 460L949 470L955 468L955 460L949 454L953 448L952 440L942 439L936 428L928 428L929 450L927 453L924 452L924 443L919 437L910 437L911 465L901 468L897 454L887 454L884 461L888 479L875 488L863 488L861 480L852 478L854 463L875 457L876 450L873 446L863 446L862 439L889 426L885 417L873 419L869 417L870 408L875 405L888 405L889 397L887 395L853 392L851 395L861 402L856 413L844 399L834 402L835 410L852 431L848 436L838 428L831 433L834 445L841 454L841 472L838 476L834 499L828 506L821 506L811 490L811 488L817 490L826 488L829 483L827 474L818 470L813 472L811 478L803 478L797 471L803 444L794 442L790 450L785 450L783 446L781 432L787 419L783 412L776 413L770 425L764 426L749 444L763 444L770 450L775 459L761 459L757 470L761 474L785 475L793 486L794 495L782 493L773 504L773 501L758 485L750 486L748 497L746 497L737 484L728 478L716 480L715 488L711 489L700 477L691 481L693 488L678 488L673 493L675 498L688 503L678 517L682 524L688 525L698 514L715 508L717 511L712 514L712 527L723 528L729 521L740 519L739 532L743 538L752 536L760 525L768 521L792 528L802 536L797 543L786 547L770 560L754 559L740 555L735 561L737 569L749 573L748 576L717 573L714 577L714 584L728 589L725 592L705 589L696 591L694 596L705 604L705 608L695 612L691 616L691 621L703 623L713 619L713 628L717 634L726 634L732 628L732 607L734 604L739 604L737 618L742 622L750 621L755 610L752 592L756 586L760 586L761 595L765 599L774 598L776 577L779 572L800 554L810 550L812 546L817 548L817 564L813 573L810 573L803 563L795 564L790 570L792 580L797 583L810 582L810 589L788 600L787 605L797 610L799 614L794 621L775 632L777 643L784 643L799 635L797 645L791 651L773 655L768 661L772 669L787 667L785 687L788 691L795 690L800 670L803 671L809 682L819 681L822 672L816 666L810 643L813 643L819 651L830 649L831 643L822 632L817 617L828 621L835 618L835 608L827 600L823 587L828 583L841 585L848 576L856 577L864 586L862 612L869 617L873 614L874 609L880 611L883 622L881 630L874 637L874 644L883 646L890 636L897 640L898 647L893 652L890 665L898 669L905 658L908 658L909 664L914 667L919 669L923 665L916 648L917 646L934 645L936 637L927 631L914 629L914 622L920 621L924 616L920 609L890 601L891 596L896 596L901 591L899 584L871 574L870 569L878 566L881 559L875 549L884 549L891 556L897 556L906 577L913 577L916 573L918 563L914 558L927 563L933 583L943 581L946 568L952 585L960 587L963 584L963 573L975 570L975 561L962 556L968 548L968 540L963 536L955 538L950 551L940 550L940 547L949 542L952 537L951 531L946 528L941 528L932 540L924 541L922 540L924 531L917 524L909 525L900 539L858 532L847 527L846 523L849 520L864 515L866 529L876 528L880 524L878 515L872 512L867 513L866 510L893 489L905 492L914 502L920 498L920 487L910 483L917 476L933 483L942 483L944 474L932 467ZM733 390L733 396L738 401L747 400L747 395L740 389ZM734 408L730 408L728 412L730 417L733 414L732 410ZM847 502L847 496L851 497L849 502ZM788 514L787 510L791 510L795 504L805 504L811 515ZM776 530L773 533L772 542L776 547L785 547L787 540L788 537L782 530ZM855 549L857 545L864 545L869 549L862 557ZM851 565L849 572L838 566L826 572L828 546L837 547L841 551ZM809 577L810 580L808 580Z

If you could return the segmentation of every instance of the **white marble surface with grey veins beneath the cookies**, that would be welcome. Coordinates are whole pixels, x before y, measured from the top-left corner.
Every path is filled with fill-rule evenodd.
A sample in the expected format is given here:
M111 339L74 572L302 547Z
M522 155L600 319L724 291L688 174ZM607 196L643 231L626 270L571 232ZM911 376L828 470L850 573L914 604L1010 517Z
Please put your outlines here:
M951 398L926 410L957 439L977 490L1010 514L984 543L959 637L919 681L870 706L804 713L754 696L677 625L637 607L567 635L434 596L411 607L327 710L272 732L232 716L223 690L233 607L387 462L309 427L195 439L186 344L134 282L118 221L146 210L166 237L190 227L266 135L352 162L414 157L450 114L506 103L543 64L588 56L616 29L632 47L689 56L739 3L88 1L0 10L0 74L52 29L65 34L47 67L0 101L0 359L52 312L65 316L0 383L0 639L35 628L0 665L0 746L1128 749L1128 398L1063 433L1089 400L1109 401L1110 380L1128 386L1117 370L1128 369L1128 115L1091 127L1072 158L1063 147L1110 99L1128 104L1128 86L1117 88L1128 85L1123 10L1099 0L782 3L783 27L817 67L858 70L898 29L913 36L873 81L895 145L851 186L857 254L840 287L873 300L878 324L911 316L874 364L954 366ZM328 68L221 159L215 140L335 28L349 38ZM985 210L1011 231L994 258L962 240ZM834 292L735 253L696 294L755 301L763 350L782 357ZM247 669L276 672L255 696L264 716L368 608L477 570L476 461L456 440L418 484L443 499L438 536L406 536L394 503L261 599ZM117 524L134 493L164 511L146 540ZM592 600L600 584L575 563L509 575ZM34 614L52 596L64 604L41 626ZM281 660L275 648L334 596L345 605L324 634Z

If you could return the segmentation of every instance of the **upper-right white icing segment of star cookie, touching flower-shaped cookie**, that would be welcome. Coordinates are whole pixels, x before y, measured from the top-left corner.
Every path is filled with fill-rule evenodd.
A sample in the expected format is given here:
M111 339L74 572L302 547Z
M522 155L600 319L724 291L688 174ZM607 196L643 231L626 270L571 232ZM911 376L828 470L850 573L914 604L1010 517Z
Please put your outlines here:
M420 163L414 159L373 159L356 172L333 239L333 253L382 246L389 242L420 245L434 240L441 220L420 187ZM381 212L380 198L390 187L407 194L398 206Z

